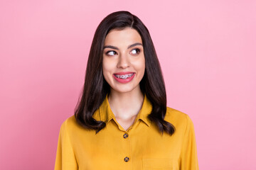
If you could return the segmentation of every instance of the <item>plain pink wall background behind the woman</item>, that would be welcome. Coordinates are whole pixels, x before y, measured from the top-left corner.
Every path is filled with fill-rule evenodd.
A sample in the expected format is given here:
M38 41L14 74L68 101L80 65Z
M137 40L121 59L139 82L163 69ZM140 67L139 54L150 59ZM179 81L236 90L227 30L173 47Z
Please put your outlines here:
M151 33L168 106L195 125L200 169L256 169L256 1L0 1L0 169L53 169L97 25Z

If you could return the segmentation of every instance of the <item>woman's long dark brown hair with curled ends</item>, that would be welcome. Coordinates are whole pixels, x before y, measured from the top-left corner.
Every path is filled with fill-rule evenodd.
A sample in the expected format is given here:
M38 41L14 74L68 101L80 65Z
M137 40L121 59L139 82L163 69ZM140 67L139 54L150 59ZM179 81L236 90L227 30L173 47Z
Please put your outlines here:
M164 120L166 115L166 89L154 44L146 26L137 16L128 11L110 13L102 20L95 31L87 61L82 96L75 108L75 118L84 128L96 130L96 133L105 128L105 122L92 118L92 115L110 92L110 86L102 74L103 46L110 30L122 30L127 27L137 30L142 38L146 69L139 86L152 105L152 111L148 118L156 124L159 132L167 132L172 135L175 131L174 125Z

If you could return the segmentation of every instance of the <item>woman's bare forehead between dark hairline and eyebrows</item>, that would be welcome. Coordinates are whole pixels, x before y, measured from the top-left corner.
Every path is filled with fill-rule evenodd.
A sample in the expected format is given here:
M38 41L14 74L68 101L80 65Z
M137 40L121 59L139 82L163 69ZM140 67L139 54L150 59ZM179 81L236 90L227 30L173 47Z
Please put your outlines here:
M123 30L113 29L105 38L105 45L131 45L142 43L142 38L134 28L124 28Z

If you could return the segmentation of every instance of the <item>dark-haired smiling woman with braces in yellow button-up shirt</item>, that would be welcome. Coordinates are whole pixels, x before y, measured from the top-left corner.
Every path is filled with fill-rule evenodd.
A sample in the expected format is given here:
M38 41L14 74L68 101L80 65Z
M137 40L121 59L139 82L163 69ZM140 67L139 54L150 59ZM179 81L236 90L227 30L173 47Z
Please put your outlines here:
M193 123L166 107L153 42L132 13L97 27L82 97L60 128L58 169L198 169Z

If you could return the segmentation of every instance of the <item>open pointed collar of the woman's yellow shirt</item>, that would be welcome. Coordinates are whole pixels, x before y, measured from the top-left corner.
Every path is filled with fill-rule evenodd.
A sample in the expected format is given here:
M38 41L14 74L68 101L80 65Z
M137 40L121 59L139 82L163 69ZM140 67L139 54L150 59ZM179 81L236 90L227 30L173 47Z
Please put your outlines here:
M144 95L144 101L142 104L142 108L139 111L135 122L137 122L137 120L140 119L144 123L146 123L146 125L150 126L151 120L149 120L149 118L147 118L147 116L151 113L151 110L152 110L151 103L150 103L149 99L146 97L146 95ZM92 117L95 118L95 120L104 121L105 123L110 122L110 120L112 120L114 118L114 113L112 113L112 111L111 111L110 103L107 100L107 96L106 96L105 100L102 102L100 108L94 113L94 115Z

